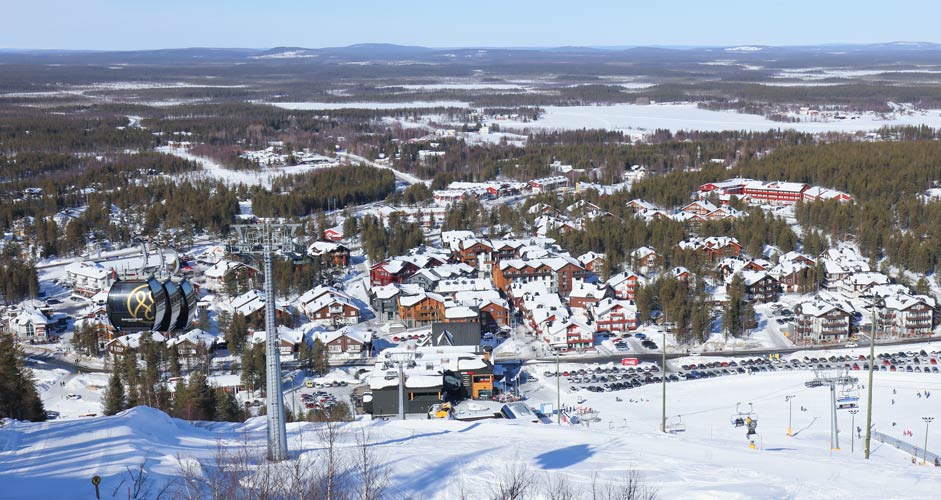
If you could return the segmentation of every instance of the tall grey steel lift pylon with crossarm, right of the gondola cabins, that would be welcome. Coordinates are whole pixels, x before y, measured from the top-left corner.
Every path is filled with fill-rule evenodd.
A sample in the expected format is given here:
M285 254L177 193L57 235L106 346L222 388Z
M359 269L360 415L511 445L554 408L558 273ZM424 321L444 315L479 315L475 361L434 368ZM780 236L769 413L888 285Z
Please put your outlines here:
M232 226L238 239L232 251L264 257L265 273L265 387L268 417L268 458L280 462L288 458L287 428L284 421L284 397L281 390L281 349L275 320L274 275L271 252L293 249L294 232L300 224L238 224Z

